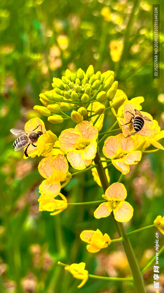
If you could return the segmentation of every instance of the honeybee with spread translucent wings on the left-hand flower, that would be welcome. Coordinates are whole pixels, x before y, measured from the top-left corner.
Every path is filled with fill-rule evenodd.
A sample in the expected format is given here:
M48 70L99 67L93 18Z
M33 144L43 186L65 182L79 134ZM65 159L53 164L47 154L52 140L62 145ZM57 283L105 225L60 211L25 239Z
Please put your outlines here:
M15 134L16 136L19 136L13 143L13 147L15 147L15 151L20 151L21 149L24 149L25 147L27 147L24 151L24 154L27 158L29 158L27 154L27 149L29 145L32 144L33 147L36 147L34 143L36 143L38 141L39 136L43 134L42 127L41 127L41 131L34 132L39 126L41 125L36 126L32 131L25 131L25 130L16 129L16 128L12 128L10 130L11 133Z

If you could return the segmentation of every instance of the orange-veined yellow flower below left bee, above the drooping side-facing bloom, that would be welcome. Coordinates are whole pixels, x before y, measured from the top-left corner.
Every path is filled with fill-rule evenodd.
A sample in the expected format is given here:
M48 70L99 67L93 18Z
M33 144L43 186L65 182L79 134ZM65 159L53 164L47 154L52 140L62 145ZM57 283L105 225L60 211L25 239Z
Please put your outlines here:
M62 154L58 154L55 158L48 157L42 159L38 170L41 176L46 178L39 186L39 192L47 197L57 196L61 189L60 182L69 182L70 180L67 178L68 162Z

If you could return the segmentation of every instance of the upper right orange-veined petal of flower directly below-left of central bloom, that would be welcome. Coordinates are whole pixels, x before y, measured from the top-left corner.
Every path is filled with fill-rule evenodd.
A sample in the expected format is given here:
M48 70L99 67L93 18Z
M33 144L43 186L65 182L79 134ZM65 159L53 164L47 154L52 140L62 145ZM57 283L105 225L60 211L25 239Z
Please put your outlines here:
M68 171L67 159L62 154L58 154L50 165L53 171L62 171L64 173Z

